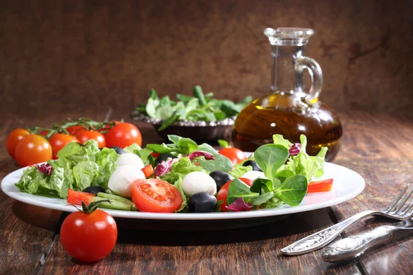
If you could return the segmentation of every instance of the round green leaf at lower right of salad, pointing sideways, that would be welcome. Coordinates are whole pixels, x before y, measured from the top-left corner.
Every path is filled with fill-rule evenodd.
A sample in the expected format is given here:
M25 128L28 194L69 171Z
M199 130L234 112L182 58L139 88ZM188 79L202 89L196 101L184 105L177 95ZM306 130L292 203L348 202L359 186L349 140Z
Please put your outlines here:
M303 175L287 177L274 188L274 194L289 206L298 206L307 194L307 178Z

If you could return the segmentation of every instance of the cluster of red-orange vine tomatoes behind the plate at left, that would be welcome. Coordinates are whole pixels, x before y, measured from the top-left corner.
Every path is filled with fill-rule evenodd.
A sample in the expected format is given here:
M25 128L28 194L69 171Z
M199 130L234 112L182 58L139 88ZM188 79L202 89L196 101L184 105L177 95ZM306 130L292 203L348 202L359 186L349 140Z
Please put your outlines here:
M52 128L14 129L7 137L8 154L19 166L29 166L49 159L70 142L96 140L99 148L131 144L142 145L142 135L136 126L127 122L96 122L79 118L77 121L54 124Z

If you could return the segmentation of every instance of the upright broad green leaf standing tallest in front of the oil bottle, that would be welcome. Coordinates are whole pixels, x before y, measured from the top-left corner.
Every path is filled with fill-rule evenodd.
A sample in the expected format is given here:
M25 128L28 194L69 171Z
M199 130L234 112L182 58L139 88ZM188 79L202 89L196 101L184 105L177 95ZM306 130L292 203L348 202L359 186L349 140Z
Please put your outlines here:
M288 159L288 149L279 144L264 144L255 150L258 166L268 179L274 179L276 172Z

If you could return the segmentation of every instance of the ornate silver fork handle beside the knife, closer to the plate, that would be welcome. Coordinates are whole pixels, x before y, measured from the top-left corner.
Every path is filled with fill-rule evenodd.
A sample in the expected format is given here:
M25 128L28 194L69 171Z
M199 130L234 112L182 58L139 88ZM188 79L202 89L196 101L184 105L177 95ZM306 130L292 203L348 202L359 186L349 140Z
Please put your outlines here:
M318 250L319 248L324 247L324 245L334 240L337 236L339 236L341 232L346 230L346 228L348 228L348 226L350 226L352 223L358 221L359 219L377 213L379 212L371 210L360 212L359 214L355 214L354 216L345 219L344 221L341 221L335 225L332 225L329 228L321 230L310 236L306 236L305 238L288 245L281 251L284 252L284 254L286 255L301 255L306 254L307 252Z

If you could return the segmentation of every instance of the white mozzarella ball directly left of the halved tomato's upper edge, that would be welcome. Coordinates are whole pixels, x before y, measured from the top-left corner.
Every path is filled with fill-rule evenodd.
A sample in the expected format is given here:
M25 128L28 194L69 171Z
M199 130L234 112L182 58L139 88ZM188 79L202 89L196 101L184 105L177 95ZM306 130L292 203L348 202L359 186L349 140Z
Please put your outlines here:
M110 176L107 187L116 195L130 198L132 196L131 186L136 179L145 179L142 170L132 165L119 166Z

